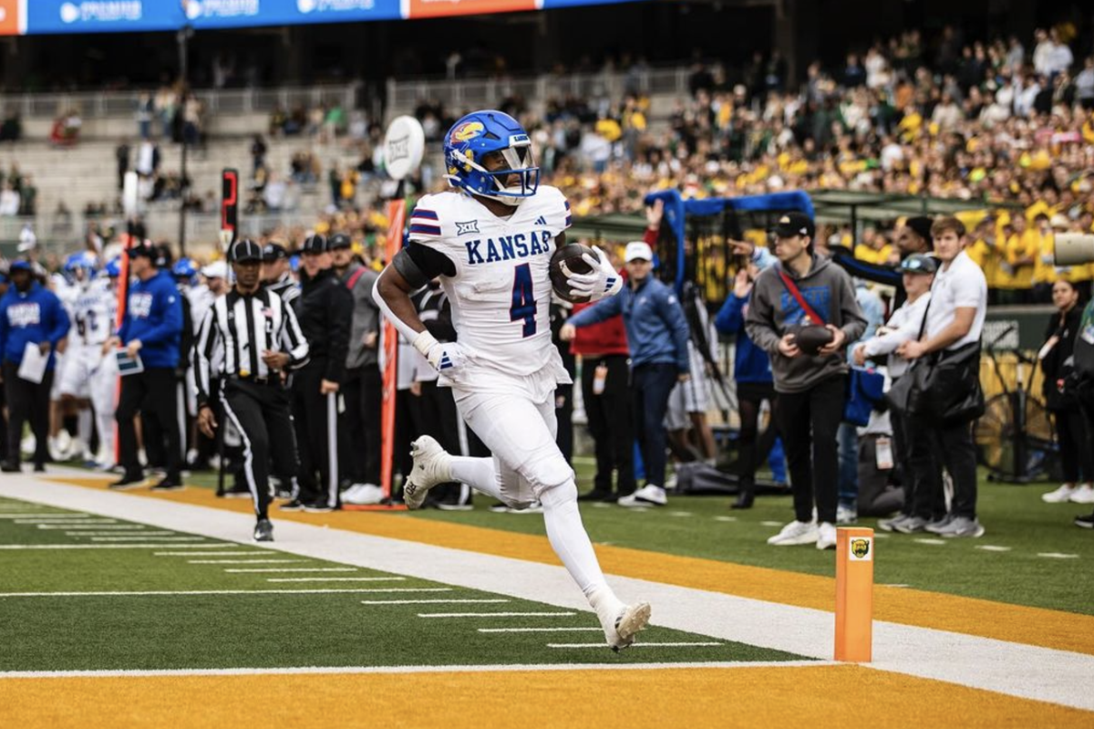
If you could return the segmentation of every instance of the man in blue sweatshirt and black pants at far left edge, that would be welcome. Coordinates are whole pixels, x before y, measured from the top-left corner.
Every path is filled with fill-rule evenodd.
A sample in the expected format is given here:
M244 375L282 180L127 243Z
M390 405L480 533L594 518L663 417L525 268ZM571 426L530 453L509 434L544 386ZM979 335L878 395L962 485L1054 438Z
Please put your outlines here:
M8 459L0 465L5 473L20 471L19 450L23 424L30 419L34 431L34 470L46 470L49 429L49 391L57 358L54 351L69 331L69 317L60 300L34 280L31 263L15 261L10 270L11 288L0 299L0 355L8 398ZM40 382L19 377L27 346L49 355Z

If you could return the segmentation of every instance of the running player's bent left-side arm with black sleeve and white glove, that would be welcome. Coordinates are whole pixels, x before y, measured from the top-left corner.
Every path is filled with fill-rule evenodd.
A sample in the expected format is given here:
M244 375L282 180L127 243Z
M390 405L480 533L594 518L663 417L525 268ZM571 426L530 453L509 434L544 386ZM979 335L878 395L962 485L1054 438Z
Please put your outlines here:
M428 245L411 241L395 254L372 289L372 299L392 321L407 342L438 370L454 367L458 357L454 344L442 345L426 329L410 294L438 276L455 276L456 266L446 255ZM444 357L446 350L450 357Z

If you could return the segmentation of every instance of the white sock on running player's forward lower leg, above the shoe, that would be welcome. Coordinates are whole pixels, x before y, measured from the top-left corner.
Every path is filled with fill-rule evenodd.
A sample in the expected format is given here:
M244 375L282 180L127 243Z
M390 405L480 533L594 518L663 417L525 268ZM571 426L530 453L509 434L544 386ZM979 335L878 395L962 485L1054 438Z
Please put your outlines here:
M585 593L597 615L606 613L614 616L622 608L622 603L604 579L601 564L593 552L593 543L581 523L578 487L570 481L562 486L548 488L540 495L539 501L544 507L547 539L555 554Z

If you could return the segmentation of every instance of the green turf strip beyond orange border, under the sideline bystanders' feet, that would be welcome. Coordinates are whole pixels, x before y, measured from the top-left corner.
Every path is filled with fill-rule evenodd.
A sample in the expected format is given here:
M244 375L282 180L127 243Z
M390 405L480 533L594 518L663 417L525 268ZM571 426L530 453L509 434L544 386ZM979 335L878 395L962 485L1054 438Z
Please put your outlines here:
M574 459L574 468L579 489L592 488L590 460ZM216 481L207 473L187 478L205 488L213 488ZM1040 494L1050 488L988 482L981 471L978 508L987 533L976 540L942 540L933 534L878 532L875 582L1094 615L1094 533L1071 523L1091 507L1045 504ZM831 553L766 543L792 519L789 496L759 497L747 511L730 510L730 501L724 496L670 496L668 506L647 510L582 502L581 514L600 544L835 576ZM493 513L488 509L492 504L476 494L472 511L427 509L387 516L546 534L542 516ZM271 516L277 519L277 507ZM876 529L876 522L860 519L859 525Z

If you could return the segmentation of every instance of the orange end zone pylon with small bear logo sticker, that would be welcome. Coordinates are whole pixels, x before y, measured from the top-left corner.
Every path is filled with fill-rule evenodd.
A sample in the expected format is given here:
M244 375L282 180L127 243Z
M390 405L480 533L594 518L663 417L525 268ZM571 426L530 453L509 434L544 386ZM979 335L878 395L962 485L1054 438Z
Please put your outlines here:
M836 660L869 663L873 653L874 530L836 530Z

